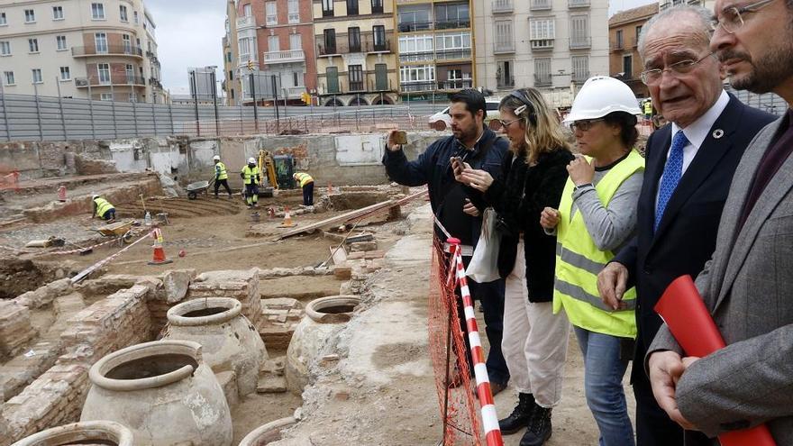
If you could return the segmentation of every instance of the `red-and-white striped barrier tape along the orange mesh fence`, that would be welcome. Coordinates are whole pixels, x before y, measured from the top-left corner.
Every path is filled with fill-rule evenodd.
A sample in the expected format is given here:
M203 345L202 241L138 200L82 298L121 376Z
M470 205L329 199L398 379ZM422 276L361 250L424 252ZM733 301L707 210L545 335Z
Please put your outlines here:
M479 327L474 314L474 303L470 296L468 278L465 276L465 266L462 264L460 240L451 237L447 240L452 246L451 269L456 271L457 283L460 285L463 313L465 314L465 328L468 332L471 359L474 362L474 377L477 380L477 396L482 412L482 426L485 431L485 441L488 446L503 446L501 429L498 427L496 405L493 403L493 392L490 390L488 368L485 366L485 350L479 339Z

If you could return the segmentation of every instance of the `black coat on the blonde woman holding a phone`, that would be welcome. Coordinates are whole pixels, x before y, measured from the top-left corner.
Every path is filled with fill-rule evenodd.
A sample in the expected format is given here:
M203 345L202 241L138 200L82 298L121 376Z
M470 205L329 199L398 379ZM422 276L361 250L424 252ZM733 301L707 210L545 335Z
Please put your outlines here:
M498 250L498 273L506 278L515 268L519 232L524 232L526 284L529 302L551 302L556 268L556 237L540 226L545 207L559 207L561 193L569 174L567 165L574 159L570 150L543 153L529 167L524 157L512 161L507 154L502 164L505 179L496 178L485 198L493 205L509 231L502 231Z

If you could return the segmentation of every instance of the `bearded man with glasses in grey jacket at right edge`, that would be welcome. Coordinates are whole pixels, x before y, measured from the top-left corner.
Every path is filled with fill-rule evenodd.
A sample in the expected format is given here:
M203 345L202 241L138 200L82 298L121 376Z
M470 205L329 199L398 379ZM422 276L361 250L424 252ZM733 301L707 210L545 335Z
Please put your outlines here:
M735 88L788 103L758 133L736 170L697 289L727 347L683 354L664 325L647 365L661 407L716 436L766 423L793 444L793 2L716 0L710 48Z

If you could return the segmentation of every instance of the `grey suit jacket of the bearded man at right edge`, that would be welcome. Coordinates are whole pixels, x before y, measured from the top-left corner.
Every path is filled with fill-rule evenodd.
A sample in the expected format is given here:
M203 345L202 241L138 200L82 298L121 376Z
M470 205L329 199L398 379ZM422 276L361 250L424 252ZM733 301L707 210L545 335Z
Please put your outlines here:
M767 125L746 149L716 251L697 276L727 347L683 374L677 398L680 413L708 436L768 423L782 446L793 445L793 157L735 233L752 177L780 121ZM681 351L665 324L648 350L648 357L654 350Z

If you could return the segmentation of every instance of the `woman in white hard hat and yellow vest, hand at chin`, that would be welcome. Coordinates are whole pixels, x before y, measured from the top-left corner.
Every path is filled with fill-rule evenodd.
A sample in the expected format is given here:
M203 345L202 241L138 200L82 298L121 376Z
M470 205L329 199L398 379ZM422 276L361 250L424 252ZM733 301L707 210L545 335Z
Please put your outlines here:
M644 159L633 149L642 114L629 86L591 77L564 120L581 155L570 162L559 209L541 224L557 235L553 310L567 314L584 356L584 388L600 446L635 444L622 379L636 337L633 288L616 310L597 292L597 273L632 238Z

